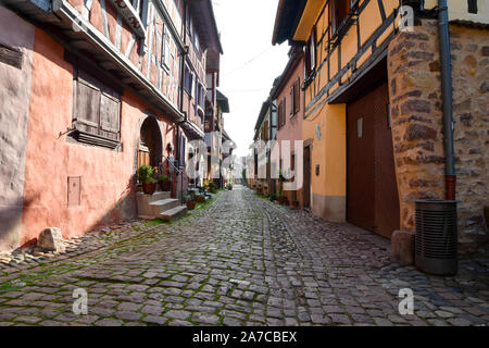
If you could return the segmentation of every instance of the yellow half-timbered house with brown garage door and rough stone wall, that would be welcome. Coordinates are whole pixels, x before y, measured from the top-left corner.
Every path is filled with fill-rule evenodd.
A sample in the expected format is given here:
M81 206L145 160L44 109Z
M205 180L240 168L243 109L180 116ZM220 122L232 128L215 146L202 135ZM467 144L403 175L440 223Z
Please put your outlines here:
M313 213L390 237L414 229L416 199L456 198L461 249L475 251L487 244L489 12L487 1L448 1L444 35L446 10L436 0L280 0L273 44L305 47Z

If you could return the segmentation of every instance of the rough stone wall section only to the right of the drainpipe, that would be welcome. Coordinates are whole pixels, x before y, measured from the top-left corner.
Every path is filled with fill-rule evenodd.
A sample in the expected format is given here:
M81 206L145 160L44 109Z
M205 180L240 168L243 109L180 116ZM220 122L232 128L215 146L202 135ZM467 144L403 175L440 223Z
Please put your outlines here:
M450 47L460 243L474 252L489 249L489 30L451 25Z

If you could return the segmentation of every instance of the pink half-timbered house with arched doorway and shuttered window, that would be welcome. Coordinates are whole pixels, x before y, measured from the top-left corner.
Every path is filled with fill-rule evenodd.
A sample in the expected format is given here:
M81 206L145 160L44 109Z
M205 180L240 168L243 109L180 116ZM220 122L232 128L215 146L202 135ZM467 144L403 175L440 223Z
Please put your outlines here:
M0 250L136 216L141 164L183 210L208 51L222 53L210 0L2 1Z

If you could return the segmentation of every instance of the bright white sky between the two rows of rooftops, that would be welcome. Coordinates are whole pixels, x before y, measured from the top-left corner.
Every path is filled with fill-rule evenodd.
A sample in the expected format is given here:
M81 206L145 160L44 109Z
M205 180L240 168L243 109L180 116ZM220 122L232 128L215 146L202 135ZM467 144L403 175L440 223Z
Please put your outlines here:
M212 0L224 54L218 89L229 99L224 128L248 154L254 124L274 78L287 64L287 41L272 46L278 0Z

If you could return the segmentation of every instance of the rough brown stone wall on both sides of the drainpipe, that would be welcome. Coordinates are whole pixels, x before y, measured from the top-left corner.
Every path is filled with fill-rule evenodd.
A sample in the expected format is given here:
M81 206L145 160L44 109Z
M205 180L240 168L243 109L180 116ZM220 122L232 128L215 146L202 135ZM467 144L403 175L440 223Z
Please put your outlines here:
M488 30L451 25L454 147L462 253L484 248L488 204ZM401 228L414 231L414 200L444 198L438 22L423 20L388 51L389 98Z

